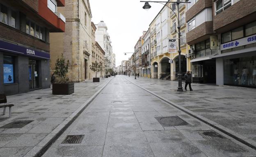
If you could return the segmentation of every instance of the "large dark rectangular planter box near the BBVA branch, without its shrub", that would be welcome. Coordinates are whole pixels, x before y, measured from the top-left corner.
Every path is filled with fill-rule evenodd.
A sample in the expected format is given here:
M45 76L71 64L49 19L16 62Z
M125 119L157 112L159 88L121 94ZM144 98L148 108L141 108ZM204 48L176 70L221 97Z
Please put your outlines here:
M74 93L74 83L54 83L53 94L54 95L69 95Z

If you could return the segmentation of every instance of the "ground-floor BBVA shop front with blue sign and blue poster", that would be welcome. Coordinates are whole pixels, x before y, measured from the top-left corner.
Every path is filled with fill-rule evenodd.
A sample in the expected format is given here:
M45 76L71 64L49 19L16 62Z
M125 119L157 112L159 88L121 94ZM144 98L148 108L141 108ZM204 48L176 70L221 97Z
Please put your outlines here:
M50 54L0 41L0 93L50 88Z

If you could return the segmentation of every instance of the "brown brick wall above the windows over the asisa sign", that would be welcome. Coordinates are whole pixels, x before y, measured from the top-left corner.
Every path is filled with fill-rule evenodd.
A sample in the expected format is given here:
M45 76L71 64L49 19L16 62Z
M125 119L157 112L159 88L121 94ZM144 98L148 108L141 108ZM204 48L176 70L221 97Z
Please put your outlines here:
M254 12L256 12L256 0L240 0L216 16L213 15L213 30L231 24ZM251 21L255 19L254 17Z

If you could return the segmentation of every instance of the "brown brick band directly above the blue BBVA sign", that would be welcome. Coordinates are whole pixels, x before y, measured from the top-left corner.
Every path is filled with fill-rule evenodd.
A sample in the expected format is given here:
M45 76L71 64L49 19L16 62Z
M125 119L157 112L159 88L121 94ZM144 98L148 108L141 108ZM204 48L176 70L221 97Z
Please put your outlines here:
M0 23L0 38L7 38L37 49L41 49L46 52L50 52L50 44L43 42L35 37L27 35L17 29L13 29L10 26Z

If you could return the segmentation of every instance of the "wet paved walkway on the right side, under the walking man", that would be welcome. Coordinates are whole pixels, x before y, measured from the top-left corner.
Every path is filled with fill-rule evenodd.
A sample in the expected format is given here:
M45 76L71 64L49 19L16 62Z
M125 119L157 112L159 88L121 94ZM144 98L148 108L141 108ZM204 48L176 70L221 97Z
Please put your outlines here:
M256 146L256 89L192 84L177 92L178 82L139 77L126 79L188 110ZM183 89L185 83L183 82Z

